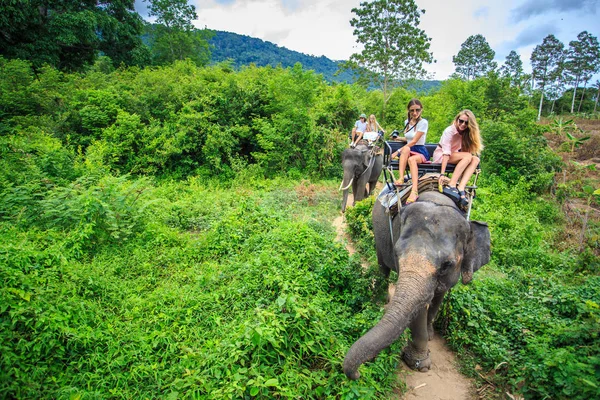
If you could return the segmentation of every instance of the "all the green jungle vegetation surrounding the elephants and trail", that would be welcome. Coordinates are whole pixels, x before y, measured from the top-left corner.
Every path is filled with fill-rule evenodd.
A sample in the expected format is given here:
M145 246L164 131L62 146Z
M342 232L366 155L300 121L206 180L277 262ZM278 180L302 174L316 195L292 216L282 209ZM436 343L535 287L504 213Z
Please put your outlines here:
M301 63L211 64L185 1L155 2L167 19L162 6L181 6L159 28L129 1L67 3L2 6L0 397L401 387L402 339L360 380L341 370L383 313L373 199L347 212L356 255L331 226L347 133L360 113L381 115L382 91ZM452 290L437 329L490 397L600 397L600 118L585 87L597 61L580 36L573 79L527 76L513 54L420 95L429 142L464 108L482 128L473 218L490 226L492 260ZM386 94L388 134L415 96Z

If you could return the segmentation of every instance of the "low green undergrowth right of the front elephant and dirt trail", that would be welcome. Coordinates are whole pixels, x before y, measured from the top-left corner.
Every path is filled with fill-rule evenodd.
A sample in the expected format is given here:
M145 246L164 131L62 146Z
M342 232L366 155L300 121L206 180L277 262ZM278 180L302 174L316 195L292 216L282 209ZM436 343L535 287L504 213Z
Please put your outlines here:
M557 205L531 183L484 177L473 210L492 235L492 260L446 296L438 317L449 343L488 379L525 398L594 398L598 391L599 281L556 253Z

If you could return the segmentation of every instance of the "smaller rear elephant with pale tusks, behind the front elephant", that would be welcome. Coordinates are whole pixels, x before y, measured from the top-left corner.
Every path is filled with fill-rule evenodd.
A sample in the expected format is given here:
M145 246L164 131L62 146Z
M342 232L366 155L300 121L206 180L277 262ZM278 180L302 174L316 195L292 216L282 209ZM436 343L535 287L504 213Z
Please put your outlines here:
M354 203L373 193L383 169L383 155L374 155L372 149L364 144L359 144L356 148L344 150L342 153L342 166L344 167L344 179L340 185L340 190L344 191L342 212L345 212L350 186L352 186ZM367 183L369 184L368 191Z

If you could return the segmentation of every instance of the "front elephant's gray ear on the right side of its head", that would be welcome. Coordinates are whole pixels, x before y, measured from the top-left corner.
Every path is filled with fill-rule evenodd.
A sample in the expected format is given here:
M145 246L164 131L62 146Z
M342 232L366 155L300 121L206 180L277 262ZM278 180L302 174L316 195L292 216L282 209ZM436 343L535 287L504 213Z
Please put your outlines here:
M473 273L490 261L490 230L485 222L471 221L471 234L465 245L462 281L471 282Z

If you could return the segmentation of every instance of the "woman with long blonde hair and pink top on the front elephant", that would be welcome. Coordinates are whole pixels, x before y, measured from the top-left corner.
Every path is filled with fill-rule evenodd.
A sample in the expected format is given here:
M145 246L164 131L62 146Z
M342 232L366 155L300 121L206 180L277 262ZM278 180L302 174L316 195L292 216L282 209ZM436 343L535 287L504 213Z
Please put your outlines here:
M456 164L452 179L448 186L444 187L443 192L463 208L469 204L465 188L479 165L478 155L481 150L483 150L483 143L475 115L471 110L463 110L454 118L452 125L444 130L440 143L433 153L433 162L442 164L440 184L445 179L446 165Z

